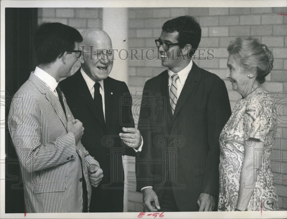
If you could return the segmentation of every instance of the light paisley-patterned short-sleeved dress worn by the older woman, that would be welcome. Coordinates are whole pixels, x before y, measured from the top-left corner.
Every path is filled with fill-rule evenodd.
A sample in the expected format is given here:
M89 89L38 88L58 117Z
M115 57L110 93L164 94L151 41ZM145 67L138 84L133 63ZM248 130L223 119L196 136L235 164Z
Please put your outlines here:
M261 168L254 172L255 186L248 211L279 210L269 156L275 143L276 114L267 91L239 99L220 133L220 191L218 211L234 211L238 200L239 179L244 158L244 142L254 145L254 138L264 142ZM253 138L253 140L252 140ZM261 149L262 151L262 149Z

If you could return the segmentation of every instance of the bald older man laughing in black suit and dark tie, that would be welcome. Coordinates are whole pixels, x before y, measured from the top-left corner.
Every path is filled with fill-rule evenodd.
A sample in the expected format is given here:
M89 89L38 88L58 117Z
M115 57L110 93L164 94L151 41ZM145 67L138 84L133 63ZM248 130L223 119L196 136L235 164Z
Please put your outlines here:
M99 186L93 187L90 212L123 212L122 155L135 156L142 138L134 128L126 83L108 77L113 68L110 37L97 28L82 35L81 68L60 85L73 115L85 128L82 144L104 174Z

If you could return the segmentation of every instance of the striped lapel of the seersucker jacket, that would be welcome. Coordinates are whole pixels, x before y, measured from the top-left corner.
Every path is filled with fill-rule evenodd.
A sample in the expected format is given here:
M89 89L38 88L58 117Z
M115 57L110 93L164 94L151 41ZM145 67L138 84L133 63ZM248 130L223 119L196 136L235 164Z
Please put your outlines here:
M36 75L34 75L34 73L31 73L29 80L32 81L32 83L34 83L37 89L45 95L46 99L51 103L52 107L54 108L56 114L59 116L65 128L67 128L67 117L63 112L61 103L59 99L57 99L57 97L53 94L48 85L44 81L39 79Z

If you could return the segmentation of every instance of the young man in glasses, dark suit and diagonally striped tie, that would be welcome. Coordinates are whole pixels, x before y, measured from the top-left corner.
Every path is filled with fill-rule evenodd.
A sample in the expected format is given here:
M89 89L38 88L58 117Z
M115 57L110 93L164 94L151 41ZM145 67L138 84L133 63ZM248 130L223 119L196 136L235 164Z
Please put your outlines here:
M166 21L155 40L168 69L144 86L137 190L148 211L212 211L219 192L219 134L230 117L226 86L191 57L201 28L193 17ZM151 104L155 106L146 107Z

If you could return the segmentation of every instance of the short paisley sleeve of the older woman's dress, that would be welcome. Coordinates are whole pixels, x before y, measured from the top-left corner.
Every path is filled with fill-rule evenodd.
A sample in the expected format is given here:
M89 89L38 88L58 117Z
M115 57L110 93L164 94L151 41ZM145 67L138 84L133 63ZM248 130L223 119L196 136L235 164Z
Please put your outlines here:
M266 93L257 93L246 103L244 113L244 138L257 138L265 143L275 135L274 106L271 97Z

